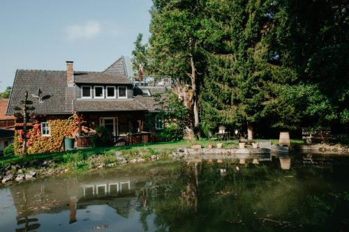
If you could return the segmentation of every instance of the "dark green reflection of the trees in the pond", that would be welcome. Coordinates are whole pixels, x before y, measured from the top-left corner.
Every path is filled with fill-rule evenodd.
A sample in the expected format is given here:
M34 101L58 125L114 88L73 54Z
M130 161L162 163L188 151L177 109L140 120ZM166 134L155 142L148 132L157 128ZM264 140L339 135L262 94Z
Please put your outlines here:
M220 169L225 169L226 175L221 175ZM309 173L321 176L322 171ZM147 215L154 213L158 231L347 228L348 192L334 194L335 187L321 177L299 180L295 178L298 172L264 164L237 169L232 162L184 163L177 169L178 178L170 180L170 191L158 192L154 198L148 196L141 221L146 224Z

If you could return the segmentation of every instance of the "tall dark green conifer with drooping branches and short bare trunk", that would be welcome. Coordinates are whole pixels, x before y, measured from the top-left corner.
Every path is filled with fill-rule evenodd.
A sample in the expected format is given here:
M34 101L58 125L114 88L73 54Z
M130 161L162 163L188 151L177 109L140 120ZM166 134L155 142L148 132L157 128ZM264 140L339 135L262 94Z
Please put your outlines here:
M272 1L208 2L210 20L202 30L211 50L202 124L247 127L248 139L253 139L253 127L274 105L276 90L294 77L292 70L272 62Z

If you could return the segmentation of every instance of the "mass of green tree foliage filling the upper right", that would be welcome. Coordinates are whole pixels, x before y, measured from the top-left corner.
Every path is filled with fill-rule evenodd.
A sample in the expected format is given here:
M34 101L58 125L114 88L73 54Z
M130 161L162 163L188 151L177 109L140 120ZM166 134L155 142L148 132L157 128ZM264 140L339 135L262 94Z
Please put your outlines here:
M343 1L153 3L149 70L194 84L204 132L246 122L278 130L348 127Z

